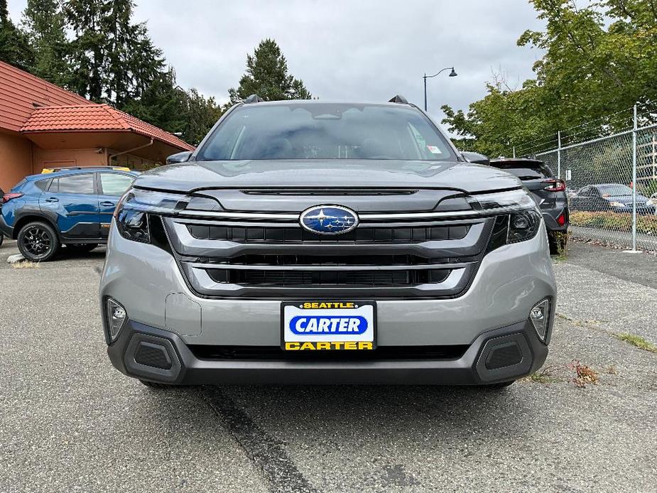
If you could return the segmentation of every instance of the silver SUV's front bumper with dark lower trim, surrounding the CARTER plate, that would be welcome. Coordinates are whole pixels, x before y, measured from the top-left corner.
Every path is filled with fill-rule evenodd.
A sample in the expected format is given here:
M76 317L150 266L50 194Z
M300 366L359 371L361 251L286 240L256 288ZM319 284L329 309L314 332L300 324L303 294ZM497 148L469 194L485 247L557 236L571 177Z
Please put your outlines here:
M547 243L541 226L533 239L489 252L461 296L376 300L379 348L463 347L452 359L205 359L190 348L280 347L282 300L197 296L168 251L124 239L113 223L100 297L124 305L129 322L109 345L109 356L125 374L173 384L482 384L516 379L540 367L548 352L527 323L533 305L544 298L552 300L554 311L556 288ZM312 290L306 298L313 298ZM136 363L137 345L153 337L150 344L167 347L169 369ZM482 352L489 351L487 344L496 337L511 337L521 362L483 371Z

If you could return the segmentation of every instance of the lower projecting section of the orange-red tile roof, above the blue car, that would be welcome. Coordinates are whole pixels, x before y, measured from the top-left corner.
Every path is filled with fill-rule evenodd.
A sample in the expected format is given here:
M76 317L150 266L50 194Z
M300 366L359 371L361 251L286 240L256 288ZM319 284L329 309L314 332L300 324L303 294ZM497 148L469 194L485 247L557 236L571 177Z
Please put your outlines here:
M194 149L175 135L109 104L38 107L21 127L21 132L53 131L132 131L186 151Z

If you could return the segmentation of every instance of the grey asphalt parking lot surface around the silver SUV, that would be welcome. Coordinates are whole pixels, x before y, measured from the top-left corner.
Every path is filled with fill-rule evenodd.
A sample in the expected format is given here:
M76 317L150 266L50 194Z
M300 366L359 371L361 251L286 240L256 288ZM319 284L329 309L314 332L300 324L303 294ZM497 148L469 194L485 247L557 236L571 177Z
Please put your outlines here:
M657 343L656 257L573 244L545 369L504 391L157 391L107 359L102 249L36 269L13 253L0 247L1 492L655 491L657 354L614 333ZM597 384L577 386L573 362Z

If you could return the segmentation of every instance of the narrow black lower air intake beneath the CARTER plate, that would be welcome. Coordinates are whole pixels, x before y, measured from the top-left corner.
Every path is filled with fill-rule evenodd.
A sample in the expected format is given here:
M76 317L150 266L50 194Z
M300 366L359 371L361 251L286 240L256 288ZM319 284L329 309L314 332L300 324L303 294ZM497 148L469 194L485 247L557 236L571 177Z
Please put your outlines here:
M272 361L368 361L376 359L459 359L467 345L379 346L371 351L283 351L278 346L188 346L200 359L249 359Z

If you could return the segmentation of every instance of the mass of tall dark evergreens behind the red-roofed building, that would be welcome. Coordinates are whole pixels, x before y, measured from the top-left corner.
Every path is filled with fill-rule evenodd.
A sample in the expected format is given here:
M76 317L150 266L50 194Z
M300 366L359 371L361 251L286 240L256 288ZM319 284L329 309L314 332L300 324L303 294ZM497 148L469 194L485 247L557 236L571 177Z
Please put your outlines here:
M178 86L133 10L133 0L28 0L21 30L0 0L0 60L198 143L222 108Z

